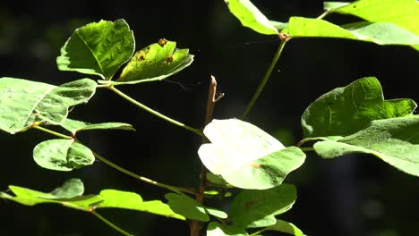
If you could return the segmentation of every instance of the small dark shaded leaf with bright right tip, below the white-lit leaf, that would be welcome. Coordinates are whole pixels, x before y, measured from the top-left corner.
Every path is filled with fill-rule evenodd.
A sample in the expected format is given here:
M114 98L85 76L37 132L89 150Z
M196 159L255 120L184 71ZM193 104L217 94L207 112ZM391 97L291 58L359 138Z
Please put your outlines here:
M193 198L177 193L167 193L165 198L168 200L168 205L175 213L184 215L184 217L192 220L202 222L209 221L209 215L217 216L218 218L227 218L227 214L221 210L202 206Z

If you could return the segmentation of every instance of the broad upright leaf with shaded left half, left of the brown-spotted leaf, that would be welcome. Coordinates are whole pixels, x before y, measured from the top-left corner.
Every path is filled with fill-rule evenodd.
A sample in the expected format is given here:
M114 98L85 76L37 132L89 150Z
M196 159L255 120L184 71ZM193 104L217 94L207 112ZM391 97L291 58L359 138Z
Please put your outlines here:
M61 71L95 74L104 80L126 63L135 50L133 31L119 19L89 23L68 38L56 58Z

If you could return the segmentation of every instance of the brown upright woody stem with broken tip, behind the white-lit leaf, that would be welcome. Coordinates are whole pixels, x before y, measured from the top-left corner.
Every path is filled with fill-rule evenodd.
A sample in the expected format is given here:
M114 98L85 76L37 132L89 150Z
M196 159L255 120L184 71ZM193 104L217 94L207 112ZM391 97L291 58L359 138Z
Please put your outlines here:
M211 76L211 81L209 82L209 92L208 92L208 102L207 102L207 111L205 114L205 122L204 127L211 122L212 114L214 113L214 105L216 103L216 93L217 93L217 80L215 80L214 76ZM209 140L205 135L202 136L202 143L208 143ZM204 191L205 191L205 184L207 181L207 168L201 164L201 182L200 188L198 189L198 193L196 194L196 200L203 204L204 201ZM201 222L200 221L192 221L190 225L190 235L191 236L200 236L201 232Z

